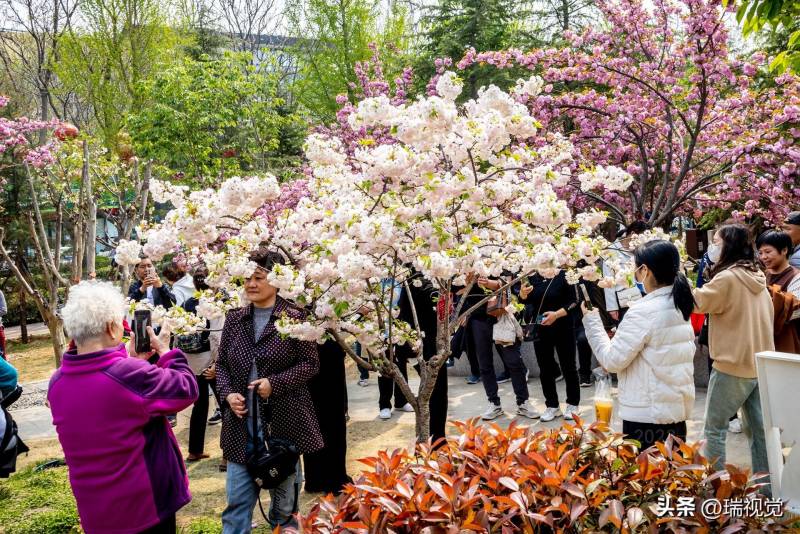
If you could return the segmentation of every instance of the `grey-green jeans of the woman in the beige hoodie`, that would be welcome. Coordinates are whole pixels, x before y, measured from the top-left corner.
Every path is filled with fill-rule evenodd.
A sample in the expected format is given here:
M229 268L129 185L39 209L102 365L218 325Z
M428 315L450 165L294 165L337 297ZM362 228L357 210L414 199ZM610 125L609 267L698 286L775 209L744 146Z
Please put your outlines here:
M769 473L761 397L756 378L739 378L716 369L711 371L706 397L705 456L714 462L715 469L725 468L728 420L739 408L742 409L742 427L750 441L753 473Z

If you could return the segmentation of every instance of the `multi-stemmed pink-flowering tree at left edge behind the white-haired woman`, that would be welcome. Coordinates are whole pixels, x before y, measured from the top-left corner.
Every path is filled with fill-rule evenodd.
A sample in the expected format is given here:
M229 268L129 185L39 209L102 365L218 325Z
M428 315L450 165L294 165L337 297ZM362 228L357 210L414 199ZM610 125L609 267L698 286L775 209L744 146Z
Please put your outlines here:
M0 96L0 107L7 102ZM4 174L22 176L27 195L17 216L28 230L41 277L26 268L21 251L15 254L7 248L5 221L0 225L0 259L5 260L47 324L56 366L67 345L58 314L61 297L72 284L94 277L97 198L105 196L118 203L114 221L128 238L132 218L137 208L144 210L147 198L148 172L140 175L135 166L109 157L105 149L78 135L77 128L58 120L0 117L0 187ZM131 202L131 191L141 202ZM68 237L70 262L65 261L63 253Z

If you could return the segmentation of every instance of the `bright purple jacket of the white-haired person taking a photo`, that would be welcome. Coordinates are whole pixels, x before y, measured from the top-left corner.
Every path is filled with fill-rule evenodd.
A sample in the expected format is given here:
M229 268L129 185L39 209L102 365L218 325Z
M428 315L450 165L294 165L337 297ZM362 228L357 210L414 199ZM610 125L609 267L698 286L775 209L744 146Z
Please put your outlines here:
M129 357L124 345L64 354L47 398L87 534L141 532L191 500L165 416L197 391L179 350L156 364Z

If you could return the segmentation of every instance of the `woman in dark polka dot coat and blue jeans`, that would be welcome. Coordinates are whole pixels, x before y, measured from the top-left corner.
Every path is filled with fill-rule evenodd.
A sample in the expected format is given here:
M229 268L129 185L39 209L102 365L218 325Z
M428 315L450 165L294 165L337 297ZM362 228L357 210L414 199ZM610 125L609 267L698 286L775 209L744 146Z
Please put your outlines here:
M319 372L317 344L282 336L275 325L283 316L294 320L305 316L267 281L273 266L284 264L283 257L259 249L250 261L257 265L244 286L250 304L225 317L216 367L217 390L229 407L223 411L220 436L228 461L228 505L222 512L225 534L250 532L260 484L249 467L263 457L265 440L291 443L301 454L324 445L307 386ZM294 472L269 490L270 525L297 526L294 515L301 483L298 460Z

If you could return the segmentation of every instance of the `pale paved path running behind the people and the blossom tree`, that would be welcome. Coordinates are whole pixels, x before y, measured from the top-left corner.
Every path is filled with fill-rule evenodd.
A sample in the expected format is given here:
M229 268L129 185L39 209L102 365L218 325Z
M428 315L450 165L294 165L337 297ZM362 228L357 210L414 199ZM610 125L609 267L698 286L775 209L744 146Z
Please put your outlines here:
M353 376L354 373L348 373ZM476 417L486 407L486 396L483 387L480 383L475 385L467 384L462 377L451 376L449 377L449 416L451 419L465 420L471 417ZM418 379L411 377L411 386L416 391ZM25 441L32 441L41 438L56 437L55 428L52 425L52 418L50 410L43 405L44 393L47 391L47 381L34 382L24 385L25 394L20 399L19 405L16 410L12 411L14 419L20 427L20 435ZM531 399L539 410L544 410L544 396L542 395L542 388L539 380L531 378L528 383ZM559 398L565 398L566 391L564 382L558 383ZM592 405L592 388L581 389L581 415L587 422L594 421L594 409ZM29 397L30 400L26 399ZM355 379L351 378L348 382L348 397L349 397L349 413L351 424L353 423L369 423L370 425L383 425L390 430L395 424L414 424L413 413L396 412L392 418L384 421L378 418L378 387L377 380L373 374L370 377L369 385L367 387L359 387L355 383ZM511 389L511 384L500 385L500 397L503 407L506 410L514 408L514 393ZM697 441L702 438L703 429L703 412L705 410L706 391L704 389L697 390L697 397L695 399L694 410L692 412L691 420L687 421L689 431L689 440ZM189 411L185 410L179 417L180 425L188 425ZM511 421L511 417L506 416L499 418L496 422L507 425ZM533 421L536 427L556 427L561 423L561 419L556 419L550 423L541 423ZM616 419L612 420L612 427L619 430L622 423ZM407 445L406 443L398 443L400 445ZM747 444L747 438L744 434L728 434L728 461L742 467L750 466L750 452Z

